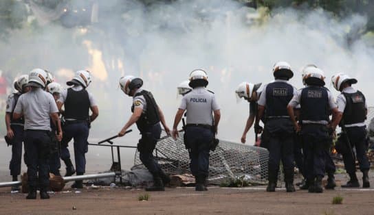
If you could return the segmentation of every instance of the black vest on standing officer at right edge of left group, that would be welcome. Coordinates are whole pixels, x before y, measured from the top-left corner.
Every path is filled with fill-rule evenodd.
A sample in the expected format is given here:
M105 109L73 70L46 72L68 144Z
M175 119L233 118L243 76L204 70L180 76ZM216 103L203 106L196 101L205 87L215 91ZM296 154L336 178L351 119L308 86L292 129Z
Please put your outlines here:
M74 91L72 88L67 89L64 106L65 118L87 120L89 118L89 107L91 106L87 90Z

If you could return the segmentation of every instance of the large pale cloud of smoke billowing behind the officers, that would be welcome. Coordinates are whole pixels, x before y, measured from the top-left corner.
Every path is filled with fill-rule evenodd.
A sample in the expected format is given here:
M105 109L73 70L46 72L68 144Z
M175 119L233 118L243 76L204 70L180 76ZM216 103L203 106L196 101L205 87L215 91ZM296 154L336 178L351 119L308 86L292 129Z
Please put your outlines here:
M80 6L82 1L74 4ZM370 39L347 39L364 29L366 18L360 14L337 20L323 10L283 8L267 15L264 9L256 11L227 0L147 7L133 0L99 1L92 8L98 11L97 22L87 27L49 22L32 31L12 31L8 41L1 43L0 53L1 69L14 76L41 67L65 85L72 71L91 70L94 81L88 90L100 109L91 136L116 134L129 118L131 99L118 88L123 75L144 79L144 88L153 92L171 128L180 101L177 84L193 69L205 69L208 88L221 105L219 138L235 142L248 117L248 103L236 104L236 86L243 81L272 81L272 66L280 60L294 68L291 83L296 88L302 87L300 69L316 64L325 71L327 87L334 95L338 92L330 84L331 76L348 73L358 78L357 88L373 105L374 49ZM39 21L45 14L35 16ZM133 133L131 140L136 140L137 132ZM252 130L250 144L251 136Z

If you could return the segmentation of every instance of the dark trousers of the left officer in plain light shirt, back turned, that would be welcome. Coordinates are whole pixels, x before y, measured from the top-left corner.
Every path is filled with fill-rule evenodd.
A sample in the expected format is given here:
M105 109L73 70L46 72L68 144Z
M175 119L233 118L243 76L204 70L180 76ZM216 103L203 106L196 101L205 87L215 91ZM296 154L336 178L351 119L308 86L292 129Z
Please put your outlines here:
M47 190L50 186L48 158L51 138L47 131L25 131L25 151L27 153L28 185L30 190Z

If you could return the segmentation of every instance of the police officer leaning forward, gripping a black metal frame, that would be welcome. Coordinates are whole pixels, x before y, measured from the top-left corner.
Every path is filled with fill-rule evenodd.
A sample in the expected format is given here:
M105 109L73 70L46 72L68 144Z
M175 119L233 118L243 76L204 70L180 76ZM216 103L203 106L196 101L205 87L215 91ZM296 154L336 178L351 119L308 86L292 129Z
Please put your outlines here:
M140 153L140 160L153 175L153 186L146 188L147 191L164 191L164 185L170 182L170 177L164 173L155 158L153 150L161 135L162 123L166 134L170 135L170 129L165 123L164 114L157 105L153 94L142 89L143 80L131 75L121 77L120 88L124 94L133 97L131 111L133 114L129 121L124 125L118 136L124 136L126 130L136 123L142 138L137 144L137 150Z

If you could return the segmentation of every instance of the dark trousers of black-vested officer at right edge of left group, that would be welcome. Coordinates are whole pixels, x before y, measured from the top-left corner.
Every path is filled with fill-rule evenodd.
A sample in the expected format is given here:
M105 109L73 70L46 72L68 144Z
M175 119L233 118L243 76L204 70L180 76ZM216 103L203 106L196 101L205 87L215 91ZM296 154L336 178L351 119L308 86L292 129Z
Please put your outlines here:
M87 123L71 123L64 127L64 140L61 149L61 159L70 158L69 149L67 149L67 142L74 139L74 158L76 162L76 173L86 172L86 157L88 151L88 136L89 127Z

